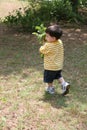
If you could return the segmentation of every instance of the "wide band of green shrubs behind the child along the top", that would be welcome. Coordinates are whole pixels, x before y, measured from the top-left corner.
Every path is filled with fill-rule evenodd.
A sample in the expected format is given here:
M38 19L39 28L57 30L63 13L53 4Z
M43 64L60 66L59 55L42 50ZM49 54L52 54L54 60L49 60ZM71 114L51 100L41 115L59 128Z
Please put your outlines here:
M79 4L83 5L84 1L80 0ZM70 0L29 0L28 7L10 13L9 16L5 17L4 23L32 32L41 23L47 26L50 22L61 20L86 23L86 18L83 15L73 11Z

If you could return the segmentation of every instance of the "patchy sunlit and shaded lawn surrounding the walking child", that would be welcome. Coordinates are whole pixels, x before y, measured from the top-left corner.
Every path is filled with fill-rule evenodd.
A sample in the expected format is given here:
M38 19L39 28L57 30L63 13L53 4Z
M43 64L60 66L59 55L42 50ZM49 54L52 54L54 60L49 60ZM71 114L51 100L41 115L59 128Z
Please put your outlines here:
M71 82L65 97L57 81L54 96L44 92L43 61L34 36L0 35L0 130L86 130L86 35L85 29L64 28L63 75Z

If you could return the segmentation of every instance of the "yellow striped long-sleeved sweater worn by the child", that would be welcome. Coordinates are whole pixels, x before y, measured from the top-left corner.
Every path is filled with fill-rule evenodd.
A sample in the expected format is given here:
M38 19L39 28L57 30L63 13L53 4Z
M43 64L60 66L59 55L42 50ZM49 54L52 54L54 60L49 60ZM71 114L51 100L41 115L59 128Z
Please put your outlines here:
M44 69L56 71L63 68L64 48L61 40L45 43L40 47L40 52L44 54Z

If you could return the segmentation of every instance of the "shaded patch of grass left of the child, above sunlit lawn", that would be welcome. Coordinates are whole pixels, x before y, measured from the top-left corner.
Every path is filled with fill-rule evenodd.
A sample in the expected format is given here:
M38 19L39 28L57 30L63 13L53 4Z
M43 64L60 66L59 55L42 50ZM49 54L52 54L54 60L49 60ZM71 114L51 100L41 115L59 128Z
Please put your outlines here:
M37 39L29 33L7 31L0 27L0 75L20 73L31 68L40 71L43 60Z

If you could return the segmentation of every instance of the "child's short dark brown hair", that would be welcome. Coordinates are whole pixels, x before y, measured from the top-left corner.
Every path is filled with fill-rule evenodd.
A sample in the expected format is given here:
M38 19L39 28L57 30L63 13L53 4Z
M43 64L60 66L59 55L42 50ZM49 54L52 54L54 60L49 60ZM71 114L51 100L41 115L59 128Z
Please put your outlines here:
M61 28L57 24L49 26L45 32L48 33L51 37L55 37L56 39L60 39L63 34Z

